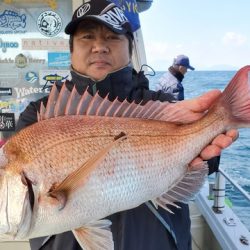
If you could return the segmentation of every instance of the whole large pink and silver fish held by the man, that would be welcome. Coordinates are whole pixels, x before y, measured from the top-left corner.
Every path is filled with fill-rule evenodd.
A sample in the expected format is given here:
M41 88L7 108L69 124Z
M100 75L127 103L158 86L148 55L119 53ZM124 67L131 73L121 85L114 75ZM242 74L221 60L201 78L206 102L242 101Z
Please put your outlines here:
M165 209L187 202L207 175L206 164L188 164L218 134L250 125L249 72L191 124L180 124L188 114L175 104L111 103L54 87L39 122L0 150L0 238L72 230L82 247L113 249L103 218L148 200Z

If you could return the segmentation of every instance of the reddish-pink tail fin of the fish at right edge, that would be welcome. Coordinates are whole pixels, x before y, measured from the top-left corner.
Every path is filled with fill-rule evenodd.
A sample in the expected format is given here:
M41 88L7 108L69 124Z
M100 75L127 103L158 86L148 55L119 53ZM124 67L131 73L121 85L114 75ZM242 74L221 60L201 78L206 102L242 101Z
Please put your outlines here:
M222 93L219 103L235 128L250 127L250 65L241 68Z

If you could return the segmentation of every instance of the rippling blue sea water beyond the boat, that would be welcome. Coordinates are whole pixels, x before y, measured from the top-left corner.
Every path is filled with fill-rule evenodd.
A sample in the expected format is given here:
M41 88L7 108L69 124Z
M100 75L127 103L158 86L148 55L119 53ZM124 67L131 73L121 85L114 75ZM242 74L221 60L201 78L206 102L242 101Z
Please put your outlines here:
M151 89L165 72L157 71L154 76L147 75ZM236 71L188 71L183 80L185 99L197 97L209 90L223 90ZM220 168L228 173L244 190L250 194L250 129L240 129L240 137L221 155ZM232 209L250 230L250 202L226 182L226 196Z

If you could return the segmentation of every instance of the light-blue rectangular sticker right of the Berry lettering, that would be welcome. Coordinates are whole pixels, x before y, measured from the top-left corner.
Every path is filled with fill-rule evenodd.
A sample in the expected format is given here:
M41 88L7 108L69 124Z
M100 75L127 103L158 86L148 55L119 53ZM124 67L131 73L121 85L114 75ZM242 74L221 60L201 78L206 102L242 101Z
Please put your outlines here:
M48 53L48 66L68 68L70 66L70 53L69 52L49 52Z

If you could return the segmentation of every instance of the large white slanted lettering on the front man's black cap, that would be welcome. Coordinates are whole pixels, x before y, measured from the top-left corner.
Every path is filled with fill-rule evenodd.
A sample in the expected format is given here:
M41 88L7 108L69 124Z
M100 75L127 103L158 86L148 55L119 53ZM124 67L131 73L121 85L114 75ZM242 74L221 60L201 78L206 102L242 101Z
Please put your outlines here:
M109 10L105 14L101 15L100 19L112 25L115 29L119 30L122 30L122 23L128 22L127 17L118 7L115 7L112 10Z

